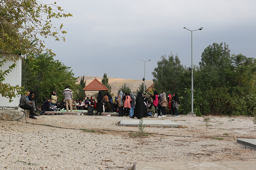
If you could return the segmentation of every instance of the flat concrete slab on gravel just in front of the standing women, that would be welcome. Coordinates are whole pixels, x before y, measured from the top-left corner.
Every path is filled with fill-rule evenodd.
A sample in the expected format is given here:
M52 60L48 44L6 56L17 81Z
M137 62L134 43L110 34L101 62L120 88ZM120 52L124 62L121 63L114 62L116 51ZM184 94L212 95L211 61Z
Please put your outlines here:
M121 120L119 126L137 126L139 124L139 119L123 119ZM176 122L172 122L171 120L143 120L143 124L146 126L153 126L153 127L177 127L180 124Z

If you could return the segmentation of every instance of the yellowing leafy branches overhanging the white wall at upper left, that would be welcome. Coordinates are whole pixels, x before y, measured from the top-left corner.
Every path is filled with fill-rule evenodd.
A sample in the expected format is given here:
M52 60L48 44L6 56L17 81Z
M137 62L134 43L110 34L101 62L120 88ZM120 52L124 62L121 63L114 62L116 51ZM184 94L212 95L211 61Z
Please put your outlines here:
M2 96L12 101L12 97L21 94L22 88L3 84L4 77L15 67L18 55L40 54L44 50L52 53L51 49L45 48L44 41L39 37L54 37L55 40L65 41L65 37L59 33L63 25L59 27L52 25L53 18L70 17L72 14L65 13L60 6L54 4L41 4L37 0L2 0L0 2L0 66L10 60L14 64L5 71L0 72L0 92Z

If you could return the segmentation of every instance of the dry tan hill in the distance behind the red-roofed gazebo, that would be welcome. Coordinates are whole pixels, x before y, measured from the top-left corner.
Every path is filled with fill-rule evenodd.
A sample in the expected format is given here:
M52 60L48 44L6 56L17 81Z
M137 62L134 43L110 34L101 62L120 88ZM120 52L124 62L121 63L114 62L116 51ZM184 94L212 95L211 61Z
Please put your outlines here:
M81 76L77 79L78 80L77 83L80 83L80 80L82 77L83 76ZM103 77L96 77L96 78L97 78L97 80L99 80L101 82ZM85 85L88 85L94 79L95 79L94 76L84 76L84 80L86 80ZM143 82L142 80L108 77L108 83L111 86L111 93L115 93L115 95L117 95L118 89L120 89L122 87L122 85L124 85L124 83L126 84L126 86L128 86L128 87L130 87L130 89L132 89L132 92L136 92L136 90L139 88L139 86L142 82ZM147 86L147 88L150 87L151 85L153 85L152 80L145 80L145 86ZM96 92L98 92L98 91L96 91ZM86 95L92 95L93 93L95 93L95 91L86 91Z

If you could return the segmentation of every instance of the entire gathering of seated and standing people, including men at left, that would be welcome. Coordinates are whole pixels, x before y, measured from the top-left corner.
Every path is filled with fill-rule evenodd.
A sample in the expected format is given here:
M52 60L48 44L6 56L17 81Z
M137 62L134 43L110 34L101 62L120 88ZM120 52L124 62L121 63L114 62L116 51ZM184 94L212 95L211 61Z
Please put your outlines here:
M29 118L36 119L35 116L39 116L37 112L41 111L38 109L34 92L26 91L27 94L23 95L20 99L20 107L23 109L30 110ZM133 93L119 92L117 96L113 93L112 96L107 92L103 95L101 91L97 96L97 102L92 97L87 97L86 100L76 99L73 100L73 93L66 86L63 90L64 99L58 100L57 92L52 91L52 94L47 98L41 109L40 114L44 115L45 111L58 111L66 109L67 112L70 110L87 110L93 108L97 111L97 115L101 115L103 112L116 112L118 116L127 116L130 118L137 117L138 119L143 117L166 117L166 110L169 110L169 114L176 117L179 116L178 108L180 106L180 100L177 93L166 95L165 92L158 94L156 91L154 94L142 94L138 93L135 98ZM61 113L62 114L62 113ZM52 114L46 114L52 115Z

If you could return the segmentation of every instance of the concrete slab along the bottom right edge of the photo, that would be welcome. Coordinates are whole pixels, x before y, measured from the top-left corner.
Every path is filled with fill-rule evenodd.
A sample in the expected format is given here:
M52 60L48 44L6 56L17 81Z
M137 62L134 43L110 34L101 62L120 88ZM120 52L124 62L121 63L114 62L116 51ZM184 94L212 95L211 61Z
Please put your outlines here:
M256 169L255 161L223 161L223 162L135 162L133 170L251 170Z

